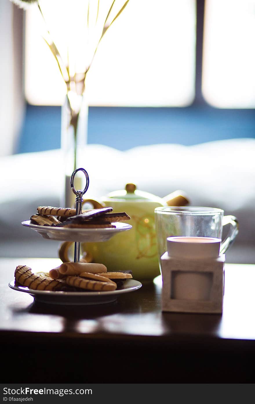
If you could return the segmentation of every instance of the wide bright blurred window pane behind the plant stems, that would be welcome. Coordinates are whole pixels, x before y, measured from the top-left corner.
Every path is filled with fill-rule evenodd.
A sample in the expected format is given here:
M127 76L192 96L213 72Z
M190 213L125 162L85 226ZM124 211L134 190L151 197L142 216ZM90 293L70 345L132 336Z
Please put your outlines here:
M69 10L66 1L70 6L70 0L48 2L49 19L47 13L45 17L50 32L54 15L58 15L58 20L52 21L56 33L56 22L60 29L65 28L61 17ZM72 0L72 6L77 2L84 4L84 0ZM56 6L59 12L54 10ZM87 23L86 15L83 21ZM69 31L74 32L77 24L77 19L70 20ZM26 11L25 23L25 96L34 105L61 105L66 88L42 39L44 32L44 21L32 6ZM58 45L61 48L60 42ZM195 0L130 0L102 39L88 72L89 105L191 105L195 97L195 46Z

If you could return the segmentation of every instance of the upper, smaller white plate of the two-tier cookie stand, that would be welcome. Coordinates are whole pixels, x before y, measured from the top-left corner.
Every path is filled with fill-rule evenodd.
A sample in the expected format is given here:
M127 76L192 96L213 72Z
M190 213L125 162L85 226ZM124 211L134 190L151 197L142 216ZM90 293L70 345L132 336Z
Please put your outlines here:
M32 224L30 220L26 220L21 224L37 231L39 234L41 234L41 236L43 236L43 238L59 241L107 241L115 234L120 233L120 231L126 231L132 228L131 225L122 222L114 223L116 228L103 227L97 229L39 226Z

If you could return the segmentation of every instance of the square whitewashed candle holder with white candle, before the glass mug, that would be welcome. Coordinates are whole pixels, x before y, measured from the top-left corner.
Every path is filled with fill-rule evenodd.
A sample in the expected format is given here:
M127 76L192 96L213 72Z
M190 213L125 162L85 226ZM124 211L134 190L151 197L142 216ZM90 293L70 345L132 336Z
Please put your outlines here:
M161 257L162 311L222 313L225 255L220 239L169 237Z

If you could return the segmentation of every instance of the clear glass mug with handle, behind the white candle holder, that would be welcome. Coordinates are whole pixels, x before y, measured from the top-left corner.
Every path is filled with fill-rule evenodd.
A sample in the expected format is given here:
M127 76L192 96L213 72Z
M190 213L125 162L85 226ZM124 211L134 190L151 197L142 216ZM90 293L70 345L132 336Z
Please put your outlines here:
M167 250L167 237L214 237L222 240L223 226L229 224L228 234L220 244L220 254L224 254L238 234L236 217L224 216L222 209L204 206L160 206L155 208L154 213L159 263L160 257Z

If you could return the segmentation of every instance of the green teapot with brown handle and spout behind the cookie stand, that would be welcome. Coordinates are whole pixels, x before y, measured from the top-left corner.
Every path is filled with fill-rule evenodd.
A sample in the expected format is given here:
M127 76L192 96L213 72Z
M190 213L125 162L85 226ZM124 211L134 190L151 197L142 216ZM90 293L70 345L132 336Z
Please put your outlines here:
M105 242L83 242L81 250L86 252L89 261L103 263L108 271L132 270L133 278L139 281L152 281L160 275L157 242L155 234L154 209L158 206L185 206L189 203L183 191L160 198L136 189L136 185L126 184L125 189L114 191L102 200L85 199L83 207L111 206L112 212L125 212L131 217L127 223L132 229L120 233ZM66 256L71 243L61 246Z

